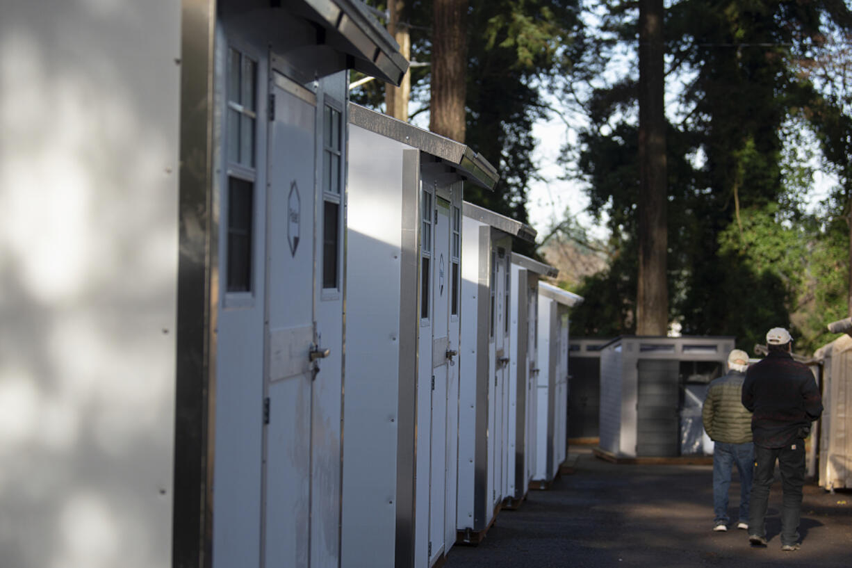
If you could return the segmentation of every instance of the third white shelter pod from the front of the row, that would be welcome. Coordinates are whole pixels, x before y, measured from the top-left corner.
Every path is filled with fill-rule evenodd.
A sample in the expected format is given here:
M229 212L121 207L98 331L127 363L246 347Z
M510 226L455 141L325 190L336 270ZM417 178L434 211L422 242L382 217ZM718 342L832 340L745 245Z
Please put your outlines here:
M464 204L459 387L458 540L479 542L508 494L512 237L524 223Z

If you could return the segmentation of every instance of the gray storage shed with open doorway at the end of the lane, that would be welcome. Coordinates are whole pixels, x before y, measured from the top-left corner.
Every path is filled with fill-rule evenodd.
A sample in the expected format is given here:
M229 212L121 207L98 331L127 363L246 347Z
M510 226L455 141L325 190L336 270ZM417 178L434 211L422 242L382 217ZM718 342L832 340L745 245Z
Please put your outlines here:
M703 453L701 403L732 349L733 337L630 336L602 347L600 448L624 457Z

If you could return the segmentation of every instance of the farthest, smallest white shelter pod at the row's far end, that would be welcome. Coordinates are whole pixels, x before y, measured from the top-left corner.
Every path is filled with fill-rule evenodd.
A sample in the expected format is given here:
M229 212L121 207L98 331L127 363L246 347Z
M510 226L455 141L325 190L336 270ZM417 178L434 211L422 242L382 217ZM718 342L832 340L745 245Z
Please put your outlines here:
M567 458L568 308L583 298L538 283L536 466L531 487L547 489Z

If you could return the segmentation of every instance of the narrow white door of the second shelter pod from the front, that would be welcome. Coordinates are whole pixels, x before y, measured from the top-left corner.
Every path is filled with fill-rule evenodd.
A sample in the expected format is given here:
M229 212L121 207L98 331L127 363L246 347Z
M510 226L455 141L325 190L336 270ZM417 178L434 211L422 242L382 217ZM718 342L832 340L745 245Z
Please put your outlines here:
M429 439L429 565L444 553L446 510L446 420L450 330L450 202L435 195L435 241L432 272L432 395Z

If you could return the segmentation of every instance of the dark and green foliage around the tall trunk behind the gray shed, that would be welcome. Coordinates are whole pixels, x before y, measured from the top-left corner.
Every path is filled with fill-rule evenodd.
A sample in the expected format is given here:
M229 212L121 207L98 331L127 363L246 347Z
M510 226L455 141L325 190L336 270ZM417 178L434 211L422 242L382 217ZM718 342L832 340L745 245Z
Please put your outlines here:
M632 5L609 8L597 42L602 59L637 36ZM848 30L849 9L683 0L667 10L670 78L682 81L667 131L669 295L671 319L684 334L735 335L751 351L769 327L790 326L796 351L809 352L826 340L826 322L845 315L852 120L842 91L820 96L795 56L816 49L831 20ZM586 311L573 317L573 328L613 335L630 333L636 297L635 70L598 85L586 98L579 171L590 211L609 216L619 255L579 291ZM802 125L815 131L841 178L827 216L804 211L814 156L796 139Z

